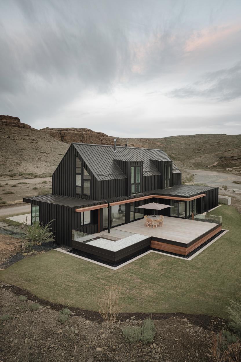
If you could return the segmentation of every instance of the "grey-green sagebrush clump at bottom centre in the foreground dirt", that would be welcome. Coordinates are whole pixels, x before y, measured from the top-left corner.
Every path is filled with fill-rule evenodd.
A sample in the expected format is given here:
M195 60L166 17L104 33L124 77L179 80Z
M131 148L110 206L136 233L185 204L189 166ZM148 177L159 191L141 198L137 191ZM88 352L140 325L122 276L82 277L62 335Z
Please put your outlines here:
M124 338L130 343L137 343L141 340L144 343L152 342L156 333L156 327L153 321L148 318L143 321L141 327L128 326L122 329Z

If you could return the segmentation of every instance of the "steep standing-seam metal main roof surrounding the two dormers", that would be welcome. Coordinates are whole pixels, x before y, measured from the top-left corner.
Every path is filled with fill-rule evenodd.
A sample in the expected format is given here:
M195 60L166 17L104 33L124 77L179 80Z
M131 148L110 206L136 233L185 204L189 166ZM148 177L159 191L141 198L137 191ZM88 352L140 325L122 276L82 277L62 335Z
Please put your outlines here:
M163 150L154 148L116 146L114 151L114 146L99 144L73 143L73 146L99 181L126 178L114 160L143 162L143 176L160 174L151 160L172 161ZM174 163L172 165L173 173L181 172Z

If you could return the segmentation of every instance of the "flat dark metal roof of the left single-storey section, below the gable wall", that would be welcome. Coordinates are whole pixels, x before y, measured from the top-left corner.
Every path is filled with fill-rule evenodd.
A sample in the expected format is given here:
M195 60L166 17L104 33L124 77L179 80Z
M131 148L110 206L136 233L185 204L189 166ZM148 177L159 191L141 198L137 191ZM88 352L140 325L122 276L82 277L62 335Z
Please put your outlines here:
M67 207L93 206L93 205L100 205L103 203L103 201L82 199L79 197L71 197L71 196L53 195L53 194L23 198L23 202L33 203L33 201L46 202L54 205L61 205Z

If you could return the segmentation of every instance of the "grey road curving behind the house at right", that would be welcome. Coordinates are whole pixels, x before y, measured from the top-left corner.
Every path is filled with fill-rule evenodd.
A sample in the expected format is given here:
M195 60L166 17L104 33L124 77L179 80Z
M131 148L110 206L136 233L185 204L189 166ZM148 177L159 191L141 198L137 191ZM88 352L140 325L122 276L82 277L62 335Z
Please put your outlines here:
M208 186L222 187L227 185L228 189L236 190L241 193L241 185L233 184L232 181L241 181L241 176L232 173L203 171L186 169L187 172L194 173L194 182L206 184Z

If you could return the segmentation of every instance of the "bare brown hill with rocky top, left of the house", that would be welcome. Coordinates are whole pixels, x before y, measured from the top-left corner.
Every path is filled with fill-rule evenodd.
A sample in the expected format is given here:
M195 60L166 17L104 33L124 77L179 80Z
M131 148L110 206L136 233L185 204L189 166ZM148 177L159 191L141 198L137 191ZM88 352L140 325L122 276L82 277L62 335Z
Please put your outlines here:
M0 176L50 175L68 147L18 117L0 115Z

